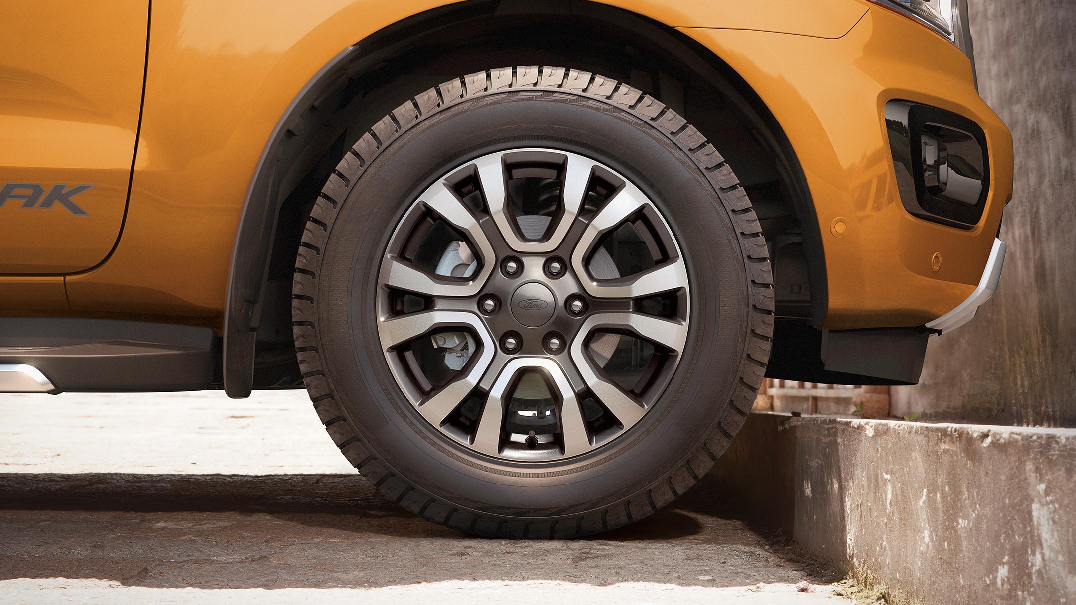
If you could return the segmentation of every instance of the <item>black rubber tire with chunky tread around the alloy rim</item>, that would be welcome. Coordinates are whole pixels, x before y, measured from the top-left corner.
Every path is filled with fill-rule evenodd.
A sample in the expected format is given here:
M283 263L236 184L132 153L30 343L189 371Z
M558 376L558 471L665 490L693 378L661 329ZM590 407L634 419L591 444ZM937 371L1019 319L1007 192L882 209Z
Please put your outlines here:
M379 339L379 297L386 296L381 267L411 201L451 166L522 147L580 154L626 175L654 200L690 282L685 340L681 350L663 353L661 368L675 364L641 419L584 454L538 462L482 454L425 422ZM306 386L341 452L411 512L504 538L611 530L686 492L744 424L774 325L759 221L713 146L653 97L556 67L466 75L407 99L378 122L322 191L298 251L293 292ZM486 344L468 350L477 357L473 351ZM497 426L502 437L507 428ZM527 448L535 447L529 435ZM567 454L566 433L563 439Z

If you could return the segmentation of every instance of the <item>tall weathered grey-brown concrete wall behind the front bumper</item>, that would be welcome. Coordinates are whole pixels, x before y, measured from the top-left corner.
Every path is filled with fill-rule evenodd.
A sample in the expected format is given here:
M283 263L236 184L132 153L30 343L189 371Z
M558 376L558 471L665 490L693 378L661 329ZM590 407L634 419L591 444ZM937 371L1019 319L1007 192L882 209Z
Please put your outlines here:
M1076 2L968 4L980 93L1016 150L1005 271L975 321L931 338L892 411L1076 426Z

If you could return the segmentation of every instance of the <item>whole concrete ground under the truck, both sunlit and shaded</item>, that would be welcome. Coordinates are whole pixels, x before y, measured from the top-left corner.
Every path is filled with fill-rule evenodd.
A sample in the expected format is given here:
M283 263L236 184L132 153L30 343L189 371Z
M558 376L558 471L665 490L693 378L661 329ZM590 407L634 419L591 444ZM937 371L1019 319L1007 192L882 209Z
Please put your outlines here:
M383 500L302 392L0 395L0 602L852 603L692 494L581 540L475 538Z

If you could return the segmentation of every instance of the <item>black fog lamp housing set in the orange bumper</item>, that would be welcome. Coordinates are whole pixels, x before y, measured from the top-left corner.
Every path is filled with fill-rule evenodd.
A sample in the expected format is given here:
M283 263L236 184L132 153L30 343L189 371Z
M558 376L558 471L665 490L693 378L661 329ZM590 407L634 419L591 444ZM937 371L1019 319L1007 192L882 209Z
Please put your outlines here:
M904 208L943 225L977 225L990 191L982 128L951 111L904 100L886 103L886 128Z

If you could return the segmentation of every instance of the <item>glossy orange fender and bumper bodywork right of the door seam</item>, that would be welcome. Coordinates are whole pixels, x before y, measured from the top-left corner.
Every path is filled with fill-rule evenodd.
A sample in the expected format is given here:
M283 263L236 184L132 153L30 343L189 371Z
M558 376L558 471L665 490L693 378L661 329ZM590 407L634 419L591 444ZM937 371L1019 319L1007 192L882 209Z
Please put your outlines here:
M601 1L680 27L778 118L822 225L826 325L921 324L972 291L1011 189L1011 141L951 44L862 0ZM156 0L123 235L107 263L65 278L69 313L220 328L244 194L288 103L342 48L447 3ZM881 113L890 98L958 111L987 131L994 183L975 229L903 210ZM841 237L831 231L836 216L847 217ZM945 257L938 272L934 253ZM29 292L3 278L0 287Z

